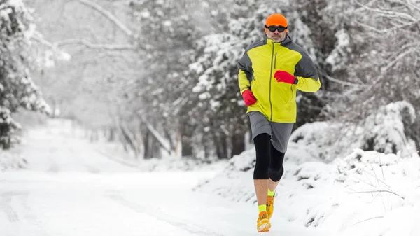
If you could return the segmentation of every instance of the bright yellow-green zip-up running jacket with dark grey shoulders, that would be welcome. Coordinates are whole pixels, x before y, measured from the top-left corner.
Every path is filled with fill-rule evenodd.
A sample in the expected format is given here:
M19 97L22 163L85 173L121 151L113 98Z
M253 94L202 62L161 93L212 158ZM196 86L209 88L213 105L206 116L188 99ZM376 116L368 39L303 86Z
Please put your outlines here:
M248 106L247 113L260 111L276 123L296 122L296 90L316 92L321 87L314 62L288 35L281 43L265 38L248 46L238 61L238 69L241 93L249 89L257 99ZM277 82L277 70L293 74L297 83Z

